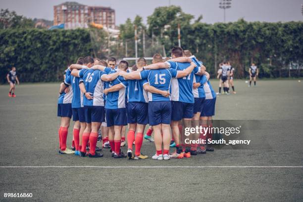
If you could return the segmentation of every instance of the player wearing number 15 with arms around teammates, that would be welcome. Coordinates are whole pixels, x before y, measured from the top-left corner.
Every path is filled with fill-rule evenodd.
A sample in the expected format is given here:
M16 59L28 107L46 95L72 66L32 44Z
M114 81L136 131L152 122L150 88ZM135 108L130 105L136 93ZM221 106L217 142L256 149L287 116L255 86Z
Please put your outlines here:
M182 56L182 50L181 50ZM127 79L148 79L149 84L159 90L167 91L170 90L171 79L186 77L194 70L196 67L195 63L191 63L188 68L177 71L176 69L169 68L171 66L168 62L163 62L162 56L160 54L153 55L151 65L144 67L145 70L140 73L121 73L122 76ZM168 68L168 69L158 69L158 68ZM192 88L192 87L191 87ZM149 94L149 123L154 130L154 143L156 148L155 155L152 159L156 160L169 160L169 144L170 144L170 127L171 122L171 112L172 106L170 98L164 97L155 93ZM163 154L162 154L162 144L163 144Z

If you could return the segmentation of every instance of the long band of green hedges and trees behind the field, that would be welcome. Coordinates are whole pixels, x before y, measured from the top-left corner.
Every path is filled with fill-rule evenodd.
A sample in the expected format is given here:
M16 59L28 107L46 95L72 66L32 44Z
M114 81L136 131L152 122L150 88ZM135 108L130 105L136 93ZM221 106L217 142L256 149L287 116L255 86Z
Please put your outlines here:
M127 19L119 26L119 36L113 37L94 28L35 29L30 19L1 10L0 78L5 82L9 68L16 66L23 82L58 81L64 69L79 56L134 57L135 27L139 57L151 57L156 52L170 56L170 49L178 45L178 24L181 47L202 60L212 76L223 60L231 62L236 78L248 77L252 62L259 67L260 77L302 76L303 22L240 19L233 23L206 24L201 20L202 16L195 19L178 6L158 7L148 17L147 25L140 16L134 21Z

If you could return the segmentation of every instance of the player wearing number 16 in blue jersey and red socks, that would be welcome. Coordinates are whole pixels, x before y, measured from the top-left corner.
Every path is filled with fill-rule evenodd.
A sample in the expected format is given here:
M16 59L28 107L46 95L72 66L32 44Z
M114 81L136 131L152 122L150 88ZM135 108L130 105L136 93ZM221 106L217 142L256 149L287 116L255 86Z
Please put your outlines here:
M111 69L106 67L107 63L105 61L101 60L99 62L103 65L94 65L91 67L92 64L94 64L94 60L92 57L88 56L84 58L84 63L91 68L76 70L75 66L70 66L71 69L75 68L71 74L75 77L80 77L79 87L85 95L83 105L86 128L83 132L82 148L80 152L80 156L83 157L86 156L88 141L90 142L89 157L103 156L102 153L96 152L98 132L101 122L104 121L103 86L104 81L111 81L118 76L118 74L107 75Z

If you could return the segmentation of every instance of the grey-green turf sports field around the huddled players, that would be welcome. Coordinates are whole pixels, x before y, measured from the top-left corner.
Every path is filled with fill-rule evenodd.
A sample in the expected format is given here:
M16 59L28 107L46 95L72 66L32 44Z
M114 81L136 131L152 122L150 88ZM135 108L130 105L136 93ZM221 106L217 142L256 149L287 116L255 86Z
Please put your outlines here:
M217 90L218 80L210 81ZM249 88L236 80L235 88L236 95L218 96L214 119L271 120L252 132L270 147L135 161L113 159L106 149L100 159L59 155L59 84L21 83L16 98L1 85L0 200L10 201L3 193L32 193L37 201L303 201L303 82L258 81ZM72 127L69 146L71 134ZM154 145L144 142L142 152L151 157Z

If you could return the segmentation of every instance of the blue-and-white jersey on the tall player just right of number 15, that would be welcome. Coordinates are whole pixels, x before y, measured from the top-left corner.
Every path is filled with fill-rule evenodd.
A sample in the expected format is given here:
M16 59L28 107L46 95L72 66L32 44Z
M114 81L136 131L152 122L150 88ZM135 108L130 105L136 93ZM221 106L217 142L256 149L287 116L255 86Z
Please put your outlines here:
M170 68L176 70L184 70L191 65L191 63L179 63L179 62L166 62ZM188 76L178 79L172 79L171 81L171 100L182 101L187 103L194 103L193 95L193 77L194 74L200 72L200 67L195 67L193 72Z

